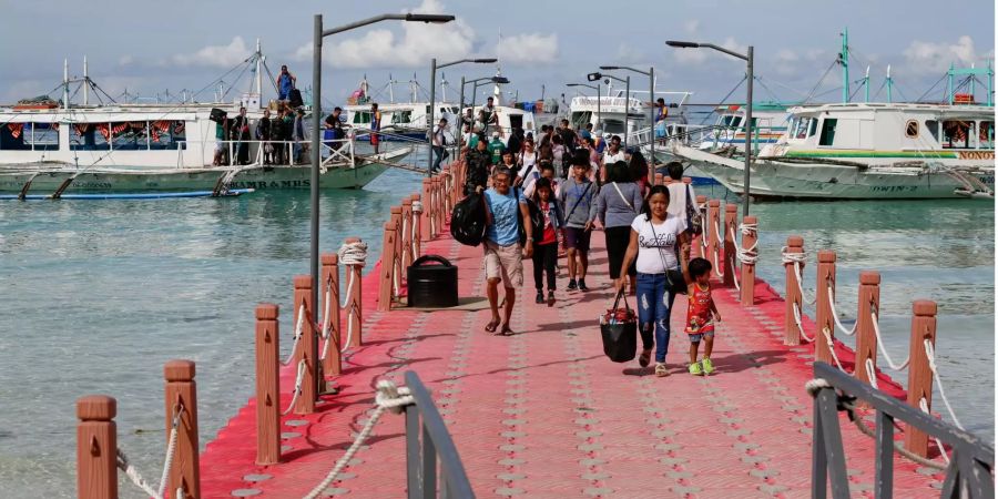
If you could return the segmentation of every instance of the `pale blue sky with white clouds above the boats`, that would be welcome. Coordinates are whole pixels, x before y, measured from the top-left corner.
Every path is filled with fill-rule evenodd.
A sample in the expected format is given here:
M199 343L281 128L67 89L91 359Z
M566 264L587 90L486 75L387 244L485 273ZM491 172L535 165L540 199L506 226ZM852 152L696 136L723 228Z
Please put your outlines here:
M112 98L122 100L128 91L165 99L166 91L174 95L186 89L203 90L197 100L212 101L218 90L212 82L251 55L257 39L271 70L276 73L281 64L287 64L298 86L307 89L314 14L322 13L328 29L396 12L449 13L457 20L447 24L385 21L326 38L326 103L344 103L365 75L376 92L385 88L389 75L403 82L395 89L401 100L399 94L414 75L429 86L435 57L439 63L499 57L499 68L510 79L503 90L521 101L540 99L542 92L549 99L560 99L562 93L571 99L577 89L564 84L585 82L585 74L600 65L654 67L656 91L693 92L694 103L721 102L744 77L743 61L709 49L673 49L665 45L670 39L711 42L739 52L753 45L756 101L800 101L812 94L812 101L837 102L842 71L833 65L839 33L846 28L853 53L852 91L869 65L870 94L884 100L889 64L895 95L914 101L943 78L950 63L985 67L994 61L995 2L945 6L926 0L0 0L0 47L4 48L0 51L0 102L57 88L63 59L69 59L71 75L82 74L84 55L90 78ZM448 99L455 101L451 95L461 77L470 80L496 71L496 64L465 63L441 70L438 79L449 82ZM223 79L232 89L226 100L249 88L248 75L237 79L237 73ZM632 90L646 92L648 77L631 77ZM941 99L944 84L937 84L929 96ZM490 90L479 88L478 100ZM437 94L439 99L439 88ZM52 95L58 99L60 92ZM862 98L859 91L854 100ZM387 91L378 99L387 100ZM744 100L744 85L729 99L739 100Z

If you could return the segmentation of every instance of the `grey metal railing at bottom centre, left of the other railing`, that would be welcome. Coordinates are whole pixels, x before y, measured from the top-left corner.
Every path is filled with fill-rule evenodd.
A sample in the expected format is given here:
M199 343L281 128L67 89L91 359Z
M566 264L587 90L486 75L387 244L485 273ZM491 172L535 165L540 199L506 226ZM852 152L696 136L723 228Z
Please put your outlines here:
M475 498L465 465L461 464L457 447L429 390L411 370L406 371L406 387L416 399L416 404L406 406L406 475L409 499L437 497L438 459L440 497Z

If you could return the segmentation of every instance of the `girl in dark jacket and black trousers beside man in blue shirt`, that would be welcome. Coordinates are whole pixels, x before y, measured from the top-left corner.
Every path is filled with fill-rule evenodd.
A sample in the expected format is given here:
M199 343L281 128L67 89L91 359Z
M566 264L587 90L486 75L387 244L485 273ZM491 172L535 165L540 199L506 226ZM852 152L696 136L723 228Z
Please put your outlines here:
M547 273L547 302L548 306L551 307L554 306L554 265L558 262L558 232L564 231L564 218L561 214L561 207L554 198L549 179L542 176L534 182L531 198L543 217L543 227L536 227L533 231L533 285L537 287L537 299L534 303L544 303L541 277L543 277L543 273Z

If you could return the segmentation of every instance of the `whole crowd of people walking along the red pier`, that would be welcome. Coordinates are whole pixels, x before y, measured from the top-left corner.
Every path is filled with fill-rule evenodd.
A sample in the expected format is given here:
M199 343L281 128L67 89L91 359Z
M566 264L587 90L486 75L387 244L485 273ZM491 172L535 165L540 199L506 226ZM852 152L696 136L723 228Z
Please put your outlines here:
M510 316L517 288L523 286L525 258L533 264L537 304L553 306L557 301L560 256L566 257L567 292L589 292L590 240L601 231L612 287L638 297L639 364L646 367L654 349L655 375L669 374L670 317L681 291L690 295L684 328L691 343L689 370L711 374L714 323L721 317L711 298L710 262L690 259L690 217L699 207L692 186L682 181L682 164L661 167L666 185L651 185L642 153L622 149L617 135L603 141L592 125L573 130L562 120L558 126L541 126L536 138L513 130L503 143L483 123L464 123L461 155L465 195L481 194L487 213L483 266L491 319L486 330L512 334Z

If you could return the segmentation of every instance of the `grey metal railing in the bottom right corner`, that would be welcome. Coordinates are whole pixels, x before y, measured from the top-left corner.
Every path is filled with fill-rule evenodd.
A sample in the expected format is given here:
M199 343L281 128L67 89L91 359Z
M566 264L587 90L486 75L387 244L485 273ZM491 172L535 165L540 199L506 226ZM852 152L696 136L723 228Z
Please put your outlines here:
M893 398L835 366L814 363L814 377L808 385L814 397L814 444L812 448L811 497L824 499L831 479L832 497L849 497L849 479L846 471L845 449L838 411L845 410L860 431L868 432L866 424L855 414L857 401L876 410L875 448L876 469L874 495L893 497L895 421L902 421L908 430L918 429L948 445L953 451L946 467L941 498L994 498L995 448L985 440L941 421ZM903 451L899 449L899 451ZM939 449L946 452L946 449Z

